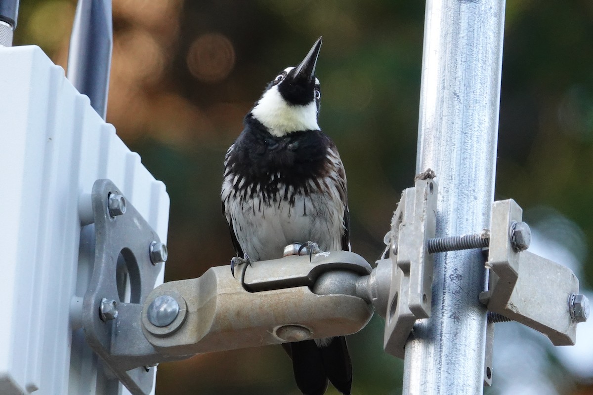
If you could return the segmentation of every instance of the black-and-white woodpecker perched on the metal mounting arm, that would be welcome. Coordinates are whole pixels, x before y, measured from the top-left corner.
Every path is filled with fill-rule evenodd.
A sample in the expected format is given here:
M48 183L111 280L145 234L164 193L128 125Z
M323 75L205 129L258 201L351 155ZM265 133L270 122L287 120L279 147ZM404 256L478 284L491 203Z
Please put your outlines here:
M336 146L317 124L321 37L297 67L284 69L244 118L224 161L222 211L235 265L282 258L285 246L350 250L346 173ZM323 394L327 381L350 394L352 365L344 336L286 343L297 386Z

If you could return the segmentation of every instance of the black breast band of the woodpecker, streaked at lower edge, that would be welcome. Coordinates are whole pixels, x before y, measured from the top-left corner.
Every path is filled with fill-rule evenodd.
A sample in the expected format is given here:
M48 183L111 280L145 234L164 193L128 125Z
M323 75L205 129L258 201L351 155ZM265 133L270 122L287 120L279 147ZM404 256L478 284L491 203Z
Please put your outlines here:
M225 168L225 177L237 176L235 196L246 198L261 193L264 200L292 201L294 195L289 196L288 187L293 187L297 194L308 195L308 181L318 184L327 175L327 147L331 140L321 131L296 131L275 137L249 115L245 123Z

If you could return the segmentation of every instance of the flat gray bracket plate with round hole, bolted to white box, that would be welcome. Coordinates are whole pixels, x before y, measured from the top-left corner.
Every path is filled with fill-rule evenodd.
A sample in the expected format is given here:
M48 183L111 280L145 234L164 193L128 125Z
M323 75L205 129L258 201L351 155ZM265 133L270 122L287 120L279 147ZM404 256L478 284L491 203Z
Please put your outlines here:
M85 252L94 253L95 257L82 303L84 334L93 351L130 392L149 394L155 370L145 365L154 365L164 358L142 335L139 317L161 271L158 256L166 260L162 256L166 255L166 247L109 179L95 181L92 194L83 196L84 199L88 201L80 203L81 218L85 223L94 223L90 225L94 226L94 243L81 241L81 249L88 249ZM89 205L92 219L88 215ZM127 279L130 293L126 297ZM136 358L138 355L142 358Z

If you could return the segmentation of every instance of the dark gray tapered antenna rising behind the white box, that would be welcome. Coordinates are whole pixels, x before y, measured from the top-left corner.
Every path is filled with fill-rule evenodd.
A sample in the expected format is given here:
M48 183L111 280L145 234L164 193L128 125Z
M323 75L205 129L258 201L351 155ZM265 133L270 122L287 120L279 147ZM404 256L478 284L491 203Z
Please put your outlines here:
M107 114L107 92L113 49L111 0L78 0L70 50L68 79L103 119Z

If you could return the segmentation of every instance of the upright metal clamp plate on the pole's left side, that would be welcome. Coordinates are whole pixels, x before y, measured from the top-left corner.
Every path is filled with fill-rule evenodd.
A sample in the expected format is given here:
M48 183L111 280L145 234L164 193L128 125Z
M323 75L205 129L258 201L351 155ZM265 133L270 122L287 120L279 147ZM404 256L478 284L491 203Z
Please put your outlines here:
M433 258L428 240L435 236L437 185L432 176L407 188L391 220L391 289L385 317L384 349L404 357L416 319L431 314Z

